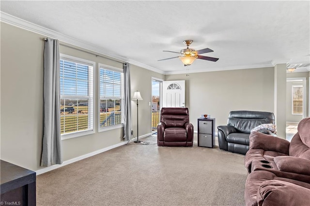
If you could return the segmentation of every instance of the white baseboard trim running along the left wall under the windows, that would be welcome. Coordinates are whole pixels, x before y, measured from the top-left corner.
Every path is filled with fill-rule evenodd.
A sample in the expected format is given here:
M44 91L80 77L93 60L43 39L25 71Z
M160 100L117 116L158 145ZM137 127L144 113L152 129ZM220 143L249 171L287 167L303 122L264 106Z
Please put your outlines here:
M143 138L148 137L148 136L150 136L150 135L152 135L152 132L140 136L139 139L143 139ZM129 142L133 142L133 141L135 141L135 140L136 140L136 138L131 139ZM52 166L39 169L39 170L37 170L37 171L35 171L35 172L36 172L36 175L41 175L41 174L43 174L43 173L52 171L52 170L54 170L54 169L58 169L58 168L63 167L63 166L65 166L65 165L71 164L71 163L73 163L73 162L78 162L78 161L80 161L80 160L83 160L83 159L92 157L92 156L94 156L94 155L100 154L100 153L105 152L105 151L108 151L108 150L110 150L110 149L123 146L123 145L125 145L125 144L127 144L127 143L128 143L128 141L124 141L124 142L121 142L121 143L118 143L118 144L115 144L115 145L111 145L111 146L109 146L109 147L105 147L105 148L102 148L102 149L93 151L93 152L91 152L91 153L88 153L88 154L85 154L85 155L81 155L81 156L76 157L76 158L72 158L71 160L63 161L62 164L54 164L54 165L52 165Z

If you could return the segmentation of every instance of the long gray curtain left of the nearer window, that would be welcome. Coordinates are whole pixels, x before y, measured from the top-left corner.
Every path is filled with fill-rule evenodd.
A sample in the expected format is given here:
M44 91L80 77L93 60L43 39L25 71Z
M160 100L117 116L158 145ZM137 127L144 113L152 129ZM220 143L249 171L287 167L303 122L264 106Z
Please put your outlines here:
M60 133L59 42L44 45L44 135L41 166L62 164Z

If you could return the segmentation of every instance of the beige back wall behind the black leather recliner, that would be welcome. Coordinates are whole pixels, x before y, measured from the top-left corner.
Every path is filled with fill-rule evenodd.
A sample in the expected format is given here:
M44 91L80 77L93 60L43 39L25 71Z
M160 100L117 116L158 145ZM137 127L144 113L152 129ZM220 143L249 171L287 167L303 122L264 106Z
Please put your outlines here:
M166 75L185 80L186 107L197 131L197 118L210 114L216 126L226 125L233 110L274 110L274 68ZM217 130L216 130L217 132Z

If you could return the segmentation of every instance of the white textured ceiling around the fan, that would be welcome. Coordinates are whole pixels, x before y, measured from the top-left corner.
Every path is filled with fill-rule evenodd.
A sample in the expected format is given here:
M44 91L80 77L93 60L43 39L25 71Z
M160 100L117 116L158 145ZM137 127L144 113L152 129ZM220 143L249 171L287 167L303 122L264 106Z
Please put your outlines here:
M178 56L210 48L189 72L308 64L310 1L5 1L1 16L16 16L162 74L186 73ZM3 21L3 18L1 17ZM5 22L5 21L4 21ZM60 38L60 40L62 40ZM303 67L303 66L301 66Z

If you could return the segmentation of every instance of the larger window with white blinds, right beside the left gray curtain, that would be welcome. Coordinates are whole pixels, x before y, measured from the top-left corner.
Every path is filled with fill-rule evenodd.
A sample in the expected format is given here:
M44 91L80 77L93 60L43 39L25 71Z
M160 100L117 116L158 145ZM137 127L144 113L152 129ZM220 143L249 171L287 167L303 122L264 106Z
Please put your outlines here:
M60 98L62 138L93 133L94 62L61 55Z

